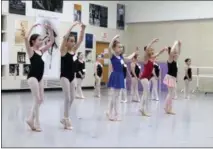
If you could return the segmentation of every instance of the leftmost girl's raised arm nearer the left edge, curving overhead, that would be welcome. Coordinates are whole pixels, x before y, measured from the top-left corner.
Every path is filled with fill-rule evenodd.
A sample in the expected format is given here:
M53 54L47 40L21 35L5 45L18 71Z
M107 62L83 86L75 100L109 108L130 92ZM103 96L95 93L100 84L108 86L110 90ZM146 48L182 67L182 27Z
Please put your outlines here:
M29 57L32 57L32 55L33 55L33 50L31 49L31 46L30 46L29 37L30 37L30 34L31 34L33 28L36 27L36 26L38 26L38 25L41 25L41 24L35 24L35 25L33 25L30 28L30 30L28 31L27 34L25 32L22 33L22 35L24 36L25 47L27 49L27 54L29 55Z

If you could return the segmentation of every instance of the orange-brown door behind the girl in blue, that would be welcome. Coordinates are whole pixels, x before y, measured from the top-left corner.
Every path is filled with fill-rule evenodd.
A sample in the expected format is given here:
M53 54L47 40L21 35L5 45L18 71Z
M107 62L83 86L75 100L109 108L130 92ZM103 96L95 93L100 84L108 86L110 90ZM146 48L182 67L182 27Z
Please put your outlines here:
M96 57L97 55L104 53L104 49L108 49L109 43L105 42L96 42ZM103 65L103 79L102 83L107 83L108 82L108 72L109 72L109 66L104 65L104 59L109 60L109 55L105 55L103 60L101 60L101 64Z

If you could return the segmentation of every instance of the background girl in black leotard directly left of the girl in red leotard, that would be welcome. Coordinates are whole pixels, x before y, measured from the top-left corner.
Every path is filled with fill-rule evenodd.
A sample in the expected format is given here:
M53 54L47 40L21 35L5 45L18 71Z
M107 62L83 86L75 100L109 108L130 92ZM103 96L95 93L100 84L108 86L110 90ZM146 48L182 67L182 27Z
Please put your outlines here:
M140 96L138 93L138 80L141 66L137 62L138 62L138 55L135 55L132 58L131 62L131 93L132 93L132 101L134 102L140 102Z

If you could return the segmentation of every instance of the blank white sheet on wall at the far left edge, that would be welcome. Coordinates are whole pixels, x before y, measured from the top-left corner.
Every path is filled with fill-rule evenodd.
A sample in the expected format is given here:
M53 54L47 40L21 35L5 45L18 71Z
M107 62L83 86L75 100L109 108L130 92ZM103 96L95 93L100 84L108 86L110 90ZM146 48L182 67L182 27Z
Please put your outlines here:
M9 64L9 48L7 42L1 42L1 64L8 65Z

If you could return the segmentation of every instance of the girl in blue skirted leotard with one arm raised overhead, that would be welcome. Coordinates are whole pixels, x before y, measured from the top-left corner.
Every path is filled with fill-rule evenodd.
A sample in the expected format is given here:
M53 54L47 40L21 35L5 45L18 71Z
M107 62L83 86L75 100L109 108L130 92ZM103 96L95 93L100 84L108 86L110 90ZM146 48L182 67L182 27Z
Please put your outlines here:
M119 35L115 36L109 45L109 56L112 65L112 72L109 77L108 87L112 89L112 97L109 100L109 111L106 113L109 120L120 120L118 115L119 95L120 91L124 89L124 74L123 64L124 58L121 56L122 46L117 40ZM114 52L112 54L112 52ZM134 52L125 59L131 59L136 53ZM114 110L114 114L113 114Z

